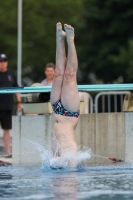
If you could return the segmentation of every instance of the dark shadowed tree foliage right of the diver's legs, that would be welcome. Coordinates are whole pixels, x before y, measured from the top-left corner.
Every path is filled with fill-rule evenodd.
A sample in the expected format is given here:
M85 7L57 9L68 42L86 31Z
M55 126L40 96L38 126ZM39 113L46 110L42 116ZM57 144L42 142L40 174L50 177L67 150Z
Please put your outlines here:
M133 76L129 76L133 72L132 44L129 42L133 39L133 1L83 2L80 62L84 81L89 82L88 71L96 73L98 79L106 83L119 76L123 76L125 82L133 81ZM121 58L125 58L123 63Z

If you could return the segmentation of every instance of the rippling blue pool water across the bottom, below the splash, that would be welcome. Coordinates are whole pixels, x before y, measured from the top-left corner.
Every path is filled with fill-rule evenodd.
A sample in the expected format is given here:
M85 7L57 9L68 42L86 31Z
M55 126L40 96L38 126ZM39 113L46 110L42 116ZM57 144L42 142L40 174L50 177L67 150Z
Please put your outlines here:
M131 164L80 169L0 167L0 199L132 200Z

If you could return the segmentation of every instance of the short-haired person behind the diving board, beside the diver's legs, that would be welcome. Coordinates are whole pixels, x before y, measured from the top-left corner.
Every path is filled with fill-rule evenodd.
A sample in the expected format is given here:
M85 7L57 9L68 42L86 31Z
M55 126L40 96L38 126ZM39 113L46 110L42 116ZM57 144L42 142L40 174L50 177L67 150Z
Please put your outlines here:
M46 79L44 79L41 83L44 86L52 85L55 73L55 65L53 63L48 63L45 67L44 74Z

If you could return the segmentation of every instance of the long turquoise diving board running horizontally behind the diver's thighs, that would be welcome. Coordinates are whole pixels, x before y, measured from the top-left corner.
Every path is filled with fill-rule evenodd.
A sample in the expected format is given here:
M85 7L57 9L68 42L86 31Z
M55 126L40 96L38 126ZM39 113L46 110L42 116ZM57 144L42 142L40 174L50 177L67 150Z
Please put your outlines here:
M133 84L78 85L80 91L133 90ZM0 94L50 92L51 86L0 88Z

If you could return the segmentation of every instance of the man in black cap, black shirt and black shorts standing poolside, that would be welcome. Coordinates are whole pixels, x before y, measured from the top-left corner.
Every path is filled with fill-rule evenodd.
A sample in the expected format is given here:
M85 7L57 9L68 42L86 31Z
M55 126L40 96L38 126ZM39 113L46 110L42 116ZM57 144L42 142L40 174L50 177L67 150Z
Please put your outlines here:
M11 70L8 70L8 59L5 54L0 54L0 88L18 87L16 76ZM17 108L22 110L21 98L15 94ZM13 94L0 94L0 123L4 131L4 145L6 157L10 158L10 129L12 128Z

